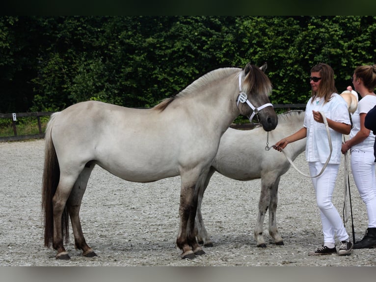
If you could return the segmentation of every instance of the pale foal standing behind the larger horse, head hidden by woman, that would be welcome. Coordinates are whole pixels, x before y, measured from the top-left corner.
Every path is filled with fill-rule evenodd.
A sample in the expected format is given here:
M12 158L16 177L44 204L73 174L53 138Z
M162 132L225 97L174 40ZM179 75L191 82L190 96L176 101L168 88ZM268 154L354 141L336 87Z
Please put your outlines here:
M278 115L278 126L270 131L269 141L275 144L282 138L293 134L303 126L304 111L290 111ZM265 143L261 142L265 140ZM281 176L290 168L287 158L276 150L267 150L267 133L256 127L251 130L229 128L222 136L215 159L211 165L204 185L199 189L197 213L195 218L195 235L200 244L213 247L213 242L205 228L201 213L201 203L210 178L215 172L226 177L248 181L261 178L259 211L254 228L257 247L266 248L263 237L263 224L269 209L269 234L276 245L283 245L276 224L278 202L278 184ZM295 158L305 150L306 138L295 141L285 148L288 156Z

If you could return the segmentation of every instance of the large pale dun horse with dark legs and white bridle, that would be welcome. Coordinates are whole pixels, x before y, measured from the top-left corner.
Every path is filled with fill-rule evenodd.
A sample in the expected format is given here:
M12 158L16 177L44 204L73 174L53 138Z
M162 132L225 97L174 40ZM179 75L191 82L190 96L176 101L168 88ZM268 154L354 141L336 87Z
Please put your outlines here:
M85 101L53 113L46 128L42 180L44 245L56 259L70 259L71 220L75 248L97 256L84 238L81 200L95 165L133 182L180 175L179 232L182 258L205 254L194 235L196 186L206 179L220 137L239 115L257 115L273 130L277 114L272 86L261 68L228 67L206 73L171 98L149 109Z

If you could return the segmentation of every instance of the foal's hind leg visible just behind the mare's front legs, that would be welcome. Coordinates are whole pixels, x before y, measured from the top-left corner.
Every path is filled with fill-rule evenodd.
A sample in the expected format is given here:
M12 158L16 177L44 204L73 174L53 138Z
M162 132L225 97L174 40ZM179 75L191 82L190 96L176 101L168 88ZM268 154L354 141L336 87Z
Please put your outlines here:
M215 169L211 168L208 176L206 177L206 180L204 182L204 185L200 187L198 191L198 201L197 201L197 213L195 218L195 225L194 225L194 233L197 237L198 243L203 244L205 247L213 247L213 242L210 239L210 236L208 235L208 232L206 231L204 220L202 218L201 213L201 203L202 198L204 197L204 193L206 188L208 187L208 184L210 182L210 178L214 174Z

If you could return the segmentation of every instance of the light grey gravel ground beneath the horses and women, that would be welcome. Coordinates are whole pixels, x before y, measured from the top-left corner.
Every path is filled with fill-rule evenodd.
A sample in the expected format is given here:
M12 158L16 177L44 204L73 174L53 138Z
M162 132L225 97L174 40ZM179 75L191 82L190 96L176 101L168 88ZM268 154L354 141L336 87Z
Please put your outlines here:
M44 140L0 143L0 266L374 266L376 249L349 256L308 256L322 244L311 180L291 168L279 185L277 223L284 246L276 246L264 223L265 249L253 238L260 180L241 182L215 173L202 204L215 246L193 260L175 248L179 226L180 178L132 183L96 167L81 207L86 241L99 257L82 257L73 234L69 261L43 246L41 178ZM295 164L306 173L304 154ZM342 213L343 165L333 202ZM351 183L356 240L367 228L365 205ZM346 225L351 235L351 220Z

